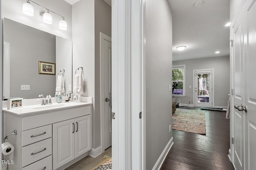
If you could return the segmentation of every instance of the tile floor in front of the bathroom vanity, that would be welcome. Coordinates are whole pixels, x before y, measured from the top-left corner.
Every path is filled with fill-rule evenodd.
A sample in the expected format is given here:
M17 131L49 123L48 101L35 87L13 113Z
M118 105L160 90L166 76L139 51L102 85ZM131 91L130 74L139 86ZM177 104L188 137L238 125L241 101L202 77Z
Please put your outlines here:
M104 155L112 157L112 148L109 147L105 150L104 153L100 154L96 158L92 158L91 156L86 156L82 158L78 162L74 163L70 167L65 170L92 170L95 166L97 166L102 160L104 160Z

